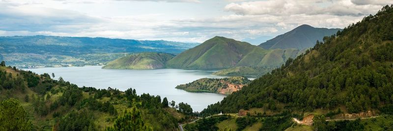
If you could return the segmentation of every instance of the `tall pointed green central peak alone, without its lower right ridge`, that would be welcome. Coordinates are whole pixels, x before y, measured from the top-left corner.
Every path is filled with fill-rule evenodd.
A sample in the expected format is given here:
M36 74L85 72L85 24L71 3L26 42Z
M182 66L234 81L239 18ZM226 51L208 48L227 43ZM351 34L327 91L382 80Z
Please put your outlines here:
M168 61L170 68L225 69L237 65L250 65L267 51L247 42L216 36L195 48L181 52Z

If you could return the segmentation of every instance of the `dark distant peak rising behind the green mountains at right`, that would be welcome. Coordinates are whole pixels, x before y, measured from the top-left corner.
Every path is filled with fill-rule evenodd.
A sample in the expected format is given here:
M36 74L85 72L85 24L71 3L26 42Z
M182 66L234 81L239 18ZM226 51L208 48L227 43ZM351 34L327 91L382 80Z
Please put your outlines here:
M315 28L309 25L302 25L292 29L289 32L281 34L271 40L259 45L263 49L307 49L315 45L315 41L322 41L324 36L330 36L339 28Z

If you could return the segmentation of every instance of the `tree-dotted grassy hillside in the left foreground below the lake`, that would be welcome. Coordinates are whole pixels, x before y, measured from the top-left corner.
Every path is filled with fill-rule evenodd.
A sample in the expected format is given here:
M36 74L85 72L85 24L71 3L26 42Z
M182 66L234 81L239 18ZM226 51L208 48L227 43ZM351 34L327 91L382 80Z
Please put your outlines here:
M55 74L0 64L1 131L177 131L190 105L108 87L78 87ZM174 108L176 106L177 108Z

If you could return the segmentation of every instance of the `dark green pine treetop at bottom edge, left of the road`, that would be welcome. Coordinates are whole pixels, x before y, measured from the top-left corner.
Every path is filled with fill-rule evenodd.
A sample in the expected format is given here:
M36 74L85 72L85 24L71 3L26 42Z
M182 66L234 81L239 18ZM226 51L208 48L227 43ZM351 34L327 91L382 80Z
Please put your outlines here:
M153 131L142 120L142 113L134 107L130 112L124 111L124 115L118 117L113 127L107 127L106 131Z

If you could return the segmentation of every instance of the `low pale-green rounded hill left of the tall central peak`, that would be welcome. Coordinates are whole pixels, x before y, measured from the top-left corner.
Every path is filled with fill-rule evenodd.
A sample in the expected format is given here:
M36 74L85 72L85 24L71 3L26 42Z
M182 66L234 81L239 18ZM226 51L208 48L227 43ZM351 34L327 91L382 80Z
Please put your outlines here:
M168 60L173 58L173 54L143 52L123 56L109 62L103 69L161 69L165 67Z

